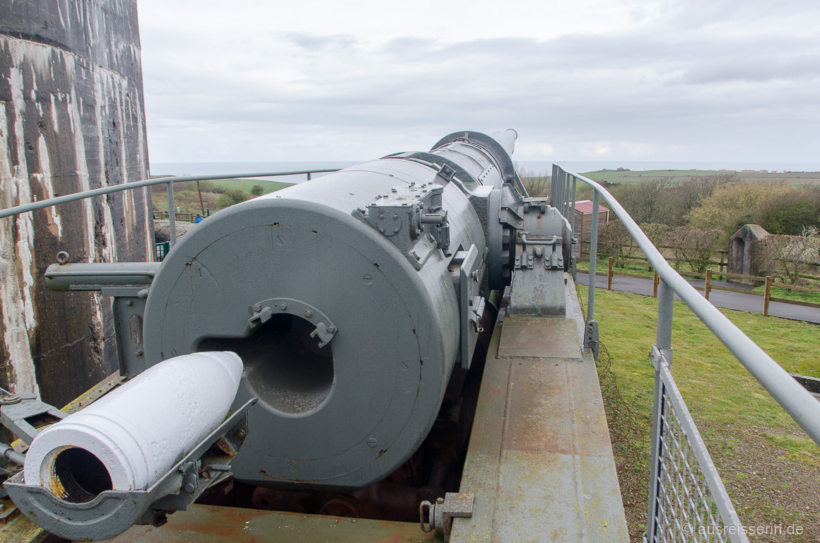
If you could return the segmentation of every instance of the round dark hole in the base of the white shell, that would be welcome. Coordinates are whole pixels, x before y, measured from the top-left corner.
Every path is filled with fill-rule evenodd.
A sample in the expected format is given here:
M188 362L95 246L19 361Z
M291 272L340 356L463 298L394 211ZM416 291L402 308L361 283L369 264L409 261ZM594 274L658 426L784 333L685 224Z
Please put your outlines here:
M80 447L68 447L54 455L48 470L52 494L72 504L87 503L103 491L113 489L111 474L94 454Z

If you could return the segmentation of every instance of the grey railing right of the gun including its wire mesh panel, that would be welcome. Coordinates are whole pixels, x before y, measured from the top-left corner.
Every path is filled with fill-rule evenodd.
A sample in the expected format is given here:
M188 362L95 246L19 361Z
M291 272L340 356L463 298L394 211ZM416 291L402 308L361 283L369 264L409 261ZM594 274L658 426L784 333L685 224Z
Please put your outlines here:
M567 205L572 178L572 206ZM626 230L654 267L658 284L658 327L652 348L655 366L652 463L649 474L649 522L645 541L745 543L731 499L708 454L704 440L677 389L669 365L672 363L672 309L675 294L708 326L717 339L768 390L791 418L820 445L820 404L763 349L720 313L680 276L649 241L626 210L604 187L584 176L569 174L553 166L550 203L564 217L575 215L575 184L581 181L594 189L590 229L589 294L584 345L597 358L598 323L594 321L595 270L597 267L599 194L609 204ZM574 230L574 229L573 229Z

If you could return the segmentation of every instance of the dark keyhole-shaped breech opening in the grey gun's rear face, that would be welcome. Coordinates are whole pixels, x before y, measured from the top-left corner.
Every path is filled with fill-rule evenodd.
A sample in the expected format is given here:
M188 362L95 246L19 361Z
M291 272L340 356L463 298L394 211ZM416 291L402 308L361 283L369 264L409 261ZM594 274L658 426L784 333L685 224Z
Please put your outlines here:
M244 361L244 378L260 403L285 416L312 413L335 383L331 344L319 347L316 323L291 314L273 315L244 338L207 338L198 350L230 350Z

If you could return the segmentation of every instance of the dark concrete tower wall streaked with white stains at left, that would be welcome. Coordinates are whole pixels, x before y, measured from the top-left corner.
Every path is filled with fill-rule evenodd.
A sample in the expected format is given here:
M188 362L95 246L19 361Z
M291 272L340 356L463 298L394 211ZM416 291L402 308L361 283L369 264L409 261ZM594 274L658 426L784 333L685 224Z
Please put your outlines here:
M135 0L0 3L0 206L148 176ZM148 189L0 220L0 384L62 406L116 369L110 300L45 290L71 262L151 259Z

